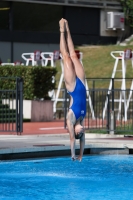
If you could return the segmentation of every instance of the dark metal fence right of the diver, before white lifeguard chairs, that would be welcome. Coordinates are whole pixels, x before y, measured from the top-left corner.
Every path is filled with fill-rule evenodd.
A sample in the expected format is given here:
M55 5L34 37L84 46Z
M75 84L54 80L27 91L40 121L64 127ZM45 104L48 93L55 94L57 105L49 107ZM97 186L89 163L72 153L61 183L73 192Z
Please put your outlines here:
M120 78L86 80L85 128L90 132L99 133L133 132L133 80ZM65 116L69 108L68 98L66 92ZM66 117L64 126L66 127Z

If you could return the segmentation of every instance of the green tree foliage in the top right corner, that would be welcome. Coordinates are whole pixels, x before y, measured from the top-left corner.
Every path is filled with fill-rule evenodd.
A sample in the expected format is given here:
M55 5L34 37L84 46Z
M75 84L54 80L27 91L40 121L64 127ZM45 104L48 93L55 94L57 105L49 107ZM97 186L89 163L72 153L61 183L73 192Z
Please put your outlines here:
M133 27L133 0L120 1L124 10L126 24Z

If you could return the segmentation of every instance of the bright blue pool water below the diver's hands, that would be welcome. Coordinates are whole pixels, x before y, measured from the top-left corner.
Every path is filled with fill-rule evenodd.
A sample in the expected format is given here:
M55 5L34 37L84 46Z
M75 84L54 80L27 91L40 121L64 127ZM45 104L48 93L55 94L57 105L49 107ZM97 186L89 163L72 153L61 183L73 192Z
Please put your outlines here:
M0 200L132 200L133 156L0 162Z

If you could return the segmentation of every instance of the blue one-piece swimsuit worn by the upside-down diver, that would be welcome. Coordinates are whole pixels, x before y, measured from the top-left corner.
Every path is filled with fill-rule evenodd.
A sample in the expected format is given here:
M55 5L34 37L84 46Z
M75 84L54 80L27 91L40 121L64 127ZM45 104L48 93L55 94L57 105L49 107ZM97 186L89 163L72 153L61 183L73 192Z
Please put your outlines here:
M86 89L82 81L76 77L76 85L73 92L68 93L73 98L73 104L70 109L75 114L76 120L86 115Z

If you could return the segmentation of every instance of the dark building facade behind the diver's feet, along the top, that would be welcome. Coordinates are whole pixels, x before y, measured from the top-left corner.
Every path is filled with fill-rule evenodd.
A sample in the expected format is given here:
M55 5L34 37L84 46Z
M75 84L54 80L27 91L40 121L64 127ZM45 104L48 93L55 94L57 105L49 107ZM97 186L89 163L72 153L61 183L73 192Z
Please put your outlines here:
M0 58L22 61L26 52L59 49L59 20L69 21L75 45L115 44L121 29L107 28L107 12L122 12L118 0L2 0Z

